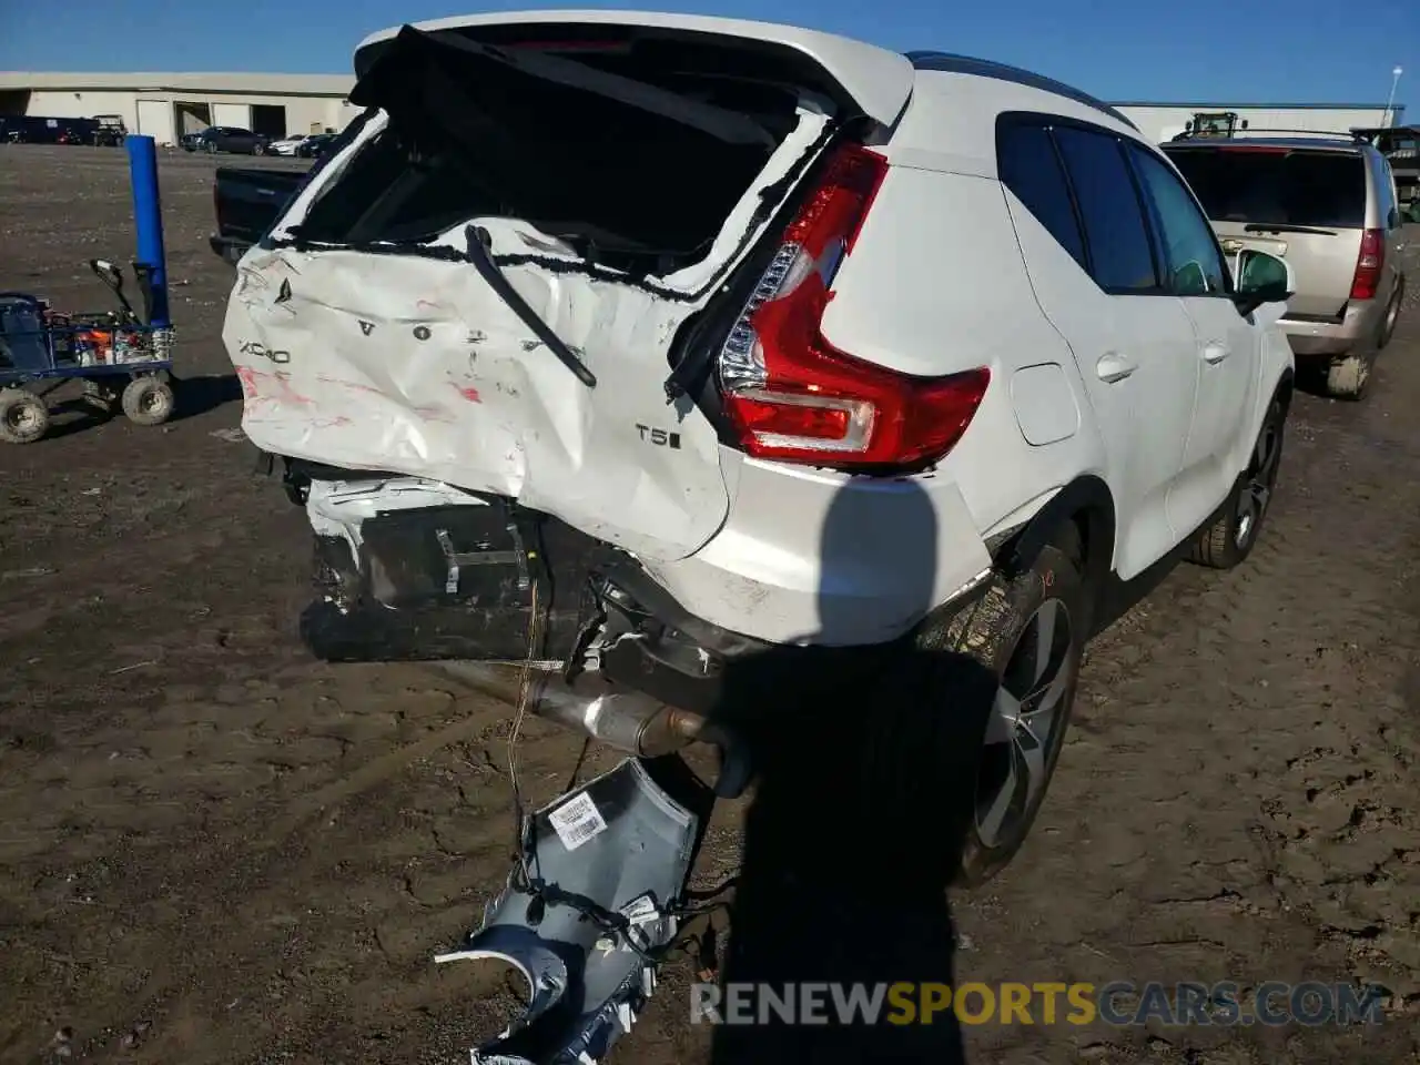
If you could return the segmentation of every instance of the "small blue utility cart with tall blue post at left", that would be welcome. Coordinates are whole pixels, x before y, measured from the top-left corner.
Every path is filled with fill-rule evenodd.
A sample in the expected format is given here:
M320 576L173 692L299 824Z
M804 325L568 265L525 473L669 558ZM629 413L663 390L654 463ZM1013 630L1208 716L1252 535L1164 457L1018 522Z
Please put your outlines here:
M128 138L128 151L138 223L132 270L141 308L124 291L122 270L99 258L89 260L89 268L114 294L111 311L65 312L31 293L0 293L3 443L41 439L50 427L47 396L65 381L82 381L85 402L104 412L116 403L136 425L162 425L173 413L158 158L149 136Z

